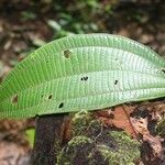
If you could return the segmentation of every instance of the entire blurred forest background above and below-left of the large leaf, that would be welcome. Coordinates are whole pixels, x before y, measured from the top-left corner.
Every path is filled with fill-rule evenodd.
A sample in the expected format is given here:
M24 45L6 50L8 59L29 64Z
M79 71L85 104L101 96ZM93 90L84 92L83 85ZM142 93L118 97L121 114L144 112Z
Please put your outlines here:
M165 1L1 0L0 81L44 43L79 33L124 35L165 56ZM0 164L29 164L24 130L33 125L33 120L0 121Z

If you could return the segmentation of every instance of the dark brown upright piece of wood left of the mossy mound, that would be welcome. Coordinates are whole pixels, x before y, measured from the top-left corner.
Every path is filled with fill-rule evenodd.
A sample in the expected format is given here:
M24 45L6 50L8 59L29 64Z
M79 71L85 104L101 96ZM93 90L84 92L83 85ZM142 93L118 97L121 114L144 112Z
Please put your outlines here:
M41 116L36 120L33 165L55 165L57 143L62 142L62 125L65 114Z

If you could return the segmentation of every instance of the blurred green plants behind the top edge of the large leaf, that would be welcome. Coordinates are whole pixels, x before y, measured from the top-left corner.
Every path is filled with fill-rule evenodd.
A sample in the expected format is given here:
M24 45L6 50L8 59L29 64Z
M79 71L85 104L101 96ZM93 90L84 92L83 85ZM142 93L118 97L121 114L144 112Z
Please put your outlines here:
M101 15L112 14L116 1L100 0L73 0L50 1L56 12L55 20L48 20L48 25L54 30L54 37L74 33L95 33L102 29ZM64 8L65 7L65 8Z

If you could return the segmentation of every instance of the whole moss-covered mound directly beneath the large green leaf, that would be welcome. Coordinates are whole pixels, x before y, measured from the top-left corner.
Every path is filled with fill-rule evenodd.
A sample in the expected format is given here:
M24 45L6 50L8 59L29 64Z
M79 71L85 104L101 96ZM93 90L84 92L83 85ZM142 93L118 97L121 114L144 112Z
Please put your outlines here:
M140 143L127 133L103 128L87 112L77 113L73 123L74 136L58 154L58 165L133 165L139 160Z

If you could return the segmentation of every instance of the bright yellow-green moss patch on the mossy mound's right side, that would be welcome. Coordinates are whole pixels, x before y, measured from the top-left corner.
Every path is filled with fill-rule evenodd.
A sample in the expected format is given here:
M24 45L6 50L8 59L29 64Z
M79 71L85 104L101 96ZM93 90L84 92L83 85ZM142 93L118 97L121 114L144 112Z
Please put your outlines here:
M131 140L123 132L113 131L112 134L116 134L116 141L118 143L118 150L111 151L107 145L100 145L99 151L101 152L105 158L108 158L109 164L116 165L132 165L133 162L140 157L140 143ZM118 136L119 135L119 136ZM121 139L119 139L121 138Z

